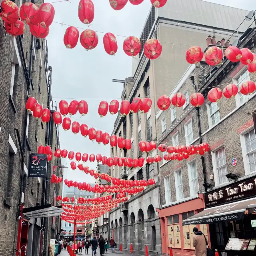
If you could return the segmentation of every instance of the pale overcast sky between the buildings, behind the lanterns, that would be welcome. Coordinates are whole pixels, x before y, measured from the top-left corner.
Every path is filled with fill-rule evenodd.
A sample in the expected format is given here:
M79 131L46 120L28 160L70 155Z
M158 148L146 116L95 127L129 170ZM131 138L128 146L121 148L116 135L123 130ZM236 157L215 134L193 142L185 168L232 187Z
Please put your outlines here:
M54 2L56 0L47 0ZM171 0L168 0L171 1ZM70 3L71 2L71 3ZM55 22L77 26L85 29L92 29L100 32L112 32L115 35L137 36L139 38L144 26L146 17L151 7L150 0L144 0L142 4L134 6L127 5L119 11L110 7L109 0L93 0L95 15L92 26L86 26L78 18L79 0L70 2L54 3ZM256 8L255 0L211 0L218 4L224 4L244 10ZM243 17L241 17L242 21ZM104 34L97 32L99 37L98 46L95 49L86 51L80 44L74 49L66 49L63 43L63 36L68 26L52 23L48 35L48 62L52 66L52 97L57 101L65 99L70 103L73 99L84 99L88 103L88 114L81 117L79 112L74 116L80 124L85 123L88 127L93 126L96 130L107 131L111 134L116 120L116 115L108 114L104 118L98 115L98 106L101 100L110 102L112 99L119 99L122 93L123 84L114 83L112 79L124 80L131 76L132 58L122 50L124 37L116 36L118 52L115 56L108 55L103 46ZM78 29L81 33L83 29ZM72 118L72 122L75 119ZM61 149L73 150L74 152L88 154L102 154L110 156L110 146L98 145L89 138L83 138L81 134L74 135L71 129L65 132L62 126L60 131ZM63 164L70 167L69 160L63 160ZM96 169L96 162L86 162L86 166ZM89 174L80 170L64 169L68 179L80 182L95 182ZM66 176L66 175L64 175Z

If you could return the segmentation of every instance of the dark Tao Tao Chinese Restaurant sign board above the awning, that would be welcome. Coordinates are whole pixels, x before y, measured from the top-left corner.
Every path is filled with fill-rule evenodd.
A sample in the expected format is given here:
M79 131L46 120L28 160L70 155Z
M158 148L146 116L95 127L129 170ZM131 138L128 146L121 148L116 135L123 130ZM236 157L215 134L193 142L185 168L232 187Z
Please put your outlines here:
M204 194L206 208L256 196L256 177L242 180Z

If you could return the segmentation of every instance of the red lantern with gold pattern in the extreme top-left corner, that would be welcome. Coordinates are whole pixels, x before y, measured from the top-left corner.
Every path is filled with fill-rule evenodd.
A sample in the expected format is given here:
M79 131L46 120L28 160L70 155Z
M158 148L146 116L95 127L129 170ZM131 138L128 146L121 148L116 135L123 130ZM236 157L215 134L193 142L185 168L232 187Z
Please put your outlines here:
M0 16L5 22L16 22L20 18L18 6L10 0L2 1L1 9Z

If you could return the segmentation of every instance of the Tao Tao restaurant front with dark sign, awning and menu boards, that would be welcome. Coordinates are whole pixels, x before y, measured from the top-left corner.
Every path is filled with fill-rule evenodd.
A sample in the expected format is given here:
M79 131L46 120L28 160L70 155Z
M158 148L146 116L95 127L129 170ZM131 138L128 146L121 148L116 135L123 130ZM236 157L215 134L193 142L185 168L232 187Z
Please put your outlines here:
M205 209L183 226L208 224L210 244L221 256L256 254L256 176L204 194Z

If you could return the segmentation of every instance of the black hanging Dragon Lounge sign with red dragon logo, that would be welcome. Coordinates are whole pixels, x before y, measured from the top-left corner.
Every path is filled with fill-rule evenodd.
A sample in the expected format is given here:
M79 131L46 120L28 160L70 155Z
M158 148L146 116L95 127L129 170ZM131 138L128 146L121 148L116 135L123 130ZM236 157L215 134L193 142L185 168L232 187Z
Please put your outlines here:
M29 158L29 177L46 177L47 173L47 155L30 154Z

